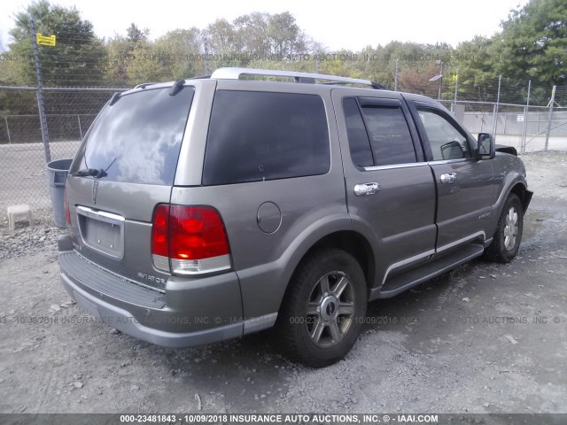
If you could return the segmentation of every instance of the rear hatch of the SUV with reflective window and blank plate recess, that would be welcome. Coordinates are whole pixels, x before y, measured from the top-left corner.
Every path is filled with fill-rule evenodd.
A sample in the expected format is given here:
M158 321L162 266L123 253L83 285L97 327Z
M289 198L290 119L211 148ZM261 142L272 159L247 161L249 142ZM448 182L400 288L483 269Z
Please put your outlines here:
M177 88L179 89L179 88ZM151 221L167 204L195 89L150 86L116 95L89 129L67 180L74 248L84 259L158 290Z

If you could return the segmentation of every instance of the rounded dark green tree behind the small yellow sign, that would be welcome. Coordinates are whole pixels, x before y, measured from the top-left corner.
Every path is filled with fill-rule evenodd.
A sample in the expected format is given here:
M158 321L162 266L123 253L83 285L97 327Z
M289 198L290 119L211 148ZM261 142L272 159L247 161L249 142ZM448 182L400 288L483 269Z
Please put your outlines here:
M29 19L35 20L35 30L42 35L56 35L55 46L39 46L45 86L89 86L103 82L106 50L97 38L92 24L81 19L77 9L51 5L40 0L27 6L26 12L15 17L10 31L14 42L10 51L21 58L33 58ZM19 61L27 84L35 82L33 60Z

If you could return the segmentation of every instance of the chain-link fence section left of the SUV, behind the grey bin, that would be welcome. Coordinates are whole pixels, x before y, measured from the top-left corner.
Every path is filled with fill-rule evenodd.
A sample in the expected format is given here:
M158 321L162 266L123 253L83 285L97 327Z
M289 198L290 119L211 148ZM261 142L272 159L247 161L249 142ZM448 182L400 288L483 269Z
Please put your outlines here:
M74 158L97 113L118 90L44 88L49 143L43 143L35 88L0 87L0 215L9 205L50 207L48 158Z

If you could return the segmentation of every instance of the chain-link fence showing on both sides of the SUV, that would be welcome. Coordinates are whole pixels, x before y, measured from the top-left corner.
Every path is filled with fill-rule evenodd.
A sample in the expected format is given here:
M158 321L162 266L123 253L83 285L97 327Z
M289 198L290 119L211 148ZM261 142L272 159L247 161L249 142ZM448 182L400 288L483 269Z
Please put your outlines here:
M567 150L565 88L548 88L547 96L540 94L530 103L530 97L518 93L517 84L509 88L500 84L498 92L489 96L495 101L465 100L463 97L467 93L460 92L447 99L452 88L450 82L445 84L440 90L440 102L473 135L493 133L497 143L515 146L520 153ZM4 177L0 179L0 215L5 215L7 206L17 204L29 204L34 210L48 211L50 195L45 168L48 158L74 158L97 113L113 93L123 90L43 88L45 121L49 131L49 142L43 143L45 135L36 89L0 86L0 167L4 170ZM431 93L425 94L438 97L439 90L432 86ZM514 98L524 99L524 102L504 102ZM546 101L548 104L545 104Z

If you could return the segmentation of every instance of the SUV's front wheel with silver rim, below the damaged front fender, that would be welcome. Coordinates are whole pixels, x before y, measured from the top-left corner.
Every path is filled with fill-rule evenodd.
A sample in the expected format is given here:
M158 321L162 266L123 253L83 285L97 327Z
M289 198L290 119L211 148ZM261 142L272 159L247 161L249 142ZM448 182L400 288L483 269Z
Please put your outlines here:
M524 207L520 198L511 193L502 208L493 242L483 257L498 263L509 263L517 255L524 230Z

